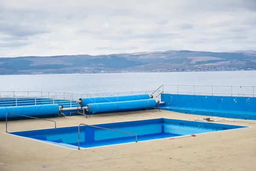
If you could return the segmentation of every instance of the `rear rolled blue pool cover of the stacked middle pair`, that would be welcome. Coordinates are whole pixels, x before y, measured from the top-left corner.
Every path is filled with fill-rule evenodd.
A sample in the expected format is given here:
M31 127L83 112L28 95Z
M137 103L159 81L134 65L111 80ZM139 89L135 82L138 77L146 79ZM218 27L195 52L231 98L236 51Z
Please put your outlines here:
M79 103L81 107L86 106L90 103L107 103L107 102L116 102L116 101L131 101L131 100L143 100L150 99L148 94L133 94L133 95L122 95L122 96L103 96L103 97L83 97L80 98Z

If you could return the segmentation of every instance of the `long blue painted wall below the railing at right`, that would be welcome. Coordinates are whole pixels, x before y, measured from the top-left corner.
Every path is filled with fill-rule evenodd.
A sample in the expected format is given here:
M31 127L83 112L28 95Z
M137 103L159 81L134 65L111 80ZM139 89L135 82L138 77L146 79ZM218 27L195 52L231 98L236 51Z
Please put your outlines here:
M256 119L256 97L161 94L163 110L237 119Z

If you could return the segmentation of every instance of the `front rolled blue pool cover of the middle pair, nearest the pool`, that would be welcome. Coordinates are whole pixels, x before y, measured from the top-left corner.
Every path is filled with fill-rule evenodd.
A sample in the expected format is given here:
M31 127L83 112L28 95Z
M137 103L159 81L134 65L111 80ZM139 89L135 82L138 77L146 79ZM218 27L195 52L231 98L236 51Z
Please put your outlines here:
M145 109L152 108L156 106L155 99L143 99L143 100L133 100L133 101L116 101L108 103L90 103L87 104L87 112L89 113L101 113L101 112L111 112L111 111L122 111L122 110L132 110L132 109Z

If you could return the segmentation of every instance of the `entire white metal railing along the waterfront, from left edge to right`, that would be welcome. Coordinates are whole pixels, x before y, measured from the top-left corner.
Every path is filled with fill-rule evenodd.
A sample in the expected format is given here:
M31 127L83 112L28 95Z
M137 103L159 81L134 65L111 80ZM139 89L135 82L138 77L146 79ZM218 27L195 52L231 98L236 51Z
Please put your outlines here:
M44 91L2 91L0 92L0 107L21 106L36 104L59 104L64 108L77 107L77 100L81 97L119 96L131 94L153 95L153 98L161 101L162 93L190 94L190 95L214 95L214 96L248 96L255 97L256 86L240 85L183 85L163 84L157 90L127 91L111 93L58 93Z

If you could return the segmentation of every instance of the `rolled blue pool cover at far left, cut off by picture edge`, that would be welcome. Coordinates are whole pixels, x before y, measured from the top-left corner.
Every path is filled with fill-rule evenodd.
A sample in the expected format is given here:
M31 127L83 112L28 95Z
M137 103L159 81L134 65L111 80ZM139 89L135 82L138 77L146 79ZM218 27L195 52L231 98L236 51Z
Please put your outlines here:
M0 119L6 118L6 113L15 113L25 116L42 116L58 114L58 104L41 104L30 106L13 106L13 107L0 107ZM17 118L21 116L8 114L7 118Z

